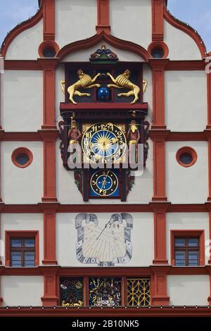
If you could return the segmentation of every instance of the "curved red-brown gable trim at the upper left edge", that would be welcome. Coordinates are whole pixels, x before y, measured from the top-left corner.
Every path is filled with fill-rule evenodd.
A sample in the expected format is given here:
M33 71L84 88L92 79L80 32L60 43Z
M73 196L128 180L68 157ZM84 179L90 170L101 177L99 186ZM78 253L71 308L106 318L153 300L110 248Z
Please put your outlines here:
M10 46L11 42L13 42L13 39L15 39L15 37L17 37L21 32L30 29L30 27L33 27L34 25L39 23L39 21L43 17L43 8L44 6L42 3L41 7L39 8L39 11L37 11L37 13L32 18L26 20L20 25L17 25L16 27L14 27L13 30L11 30L11 32L8 33L1 46L1 56L3 56L4 58L6 57L6 51L8 50L8 46Z

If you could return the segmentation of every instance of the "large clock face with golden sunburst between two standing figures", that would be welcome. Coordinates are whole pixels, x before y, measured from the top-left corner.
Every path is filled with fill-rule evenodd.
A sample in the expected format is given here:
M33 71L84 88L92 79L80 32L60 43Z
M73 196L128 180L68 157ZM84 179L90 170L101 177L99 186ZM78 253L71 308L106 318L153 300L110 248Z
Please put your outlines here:
M85 125L82 137L84 161L93 163L120 163L127 145L124 125L96 123Z

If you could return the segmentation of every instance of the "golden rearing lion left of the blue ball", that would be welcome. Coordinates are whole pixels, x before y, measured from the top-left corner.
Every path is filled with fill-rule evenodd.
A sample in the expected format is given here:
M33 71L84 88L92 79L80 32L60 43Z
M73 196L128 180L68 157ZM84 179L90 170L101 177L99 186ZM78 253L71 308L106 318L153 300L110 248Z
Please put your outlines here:
M78 89L80 89L80 88L91 89L92 87L101 86L100 84L94 84L97 77L99 77L101 75L101 73L98 73L94 78L91 78L89 75L84 73L82 69L79 69L77 71L77 74L78 74L79 80L77 80L77 82L75 82L73 85L70 85L68 87L68 93L70 94L70 101L72 102L72 104L77 104L77 102L75 102L73 100L73 96L75 96L75 95L90 96L90 93L82 93L82 92L79 92ZM61 86L63 93L65 93L65 80L60 81L60 86Z

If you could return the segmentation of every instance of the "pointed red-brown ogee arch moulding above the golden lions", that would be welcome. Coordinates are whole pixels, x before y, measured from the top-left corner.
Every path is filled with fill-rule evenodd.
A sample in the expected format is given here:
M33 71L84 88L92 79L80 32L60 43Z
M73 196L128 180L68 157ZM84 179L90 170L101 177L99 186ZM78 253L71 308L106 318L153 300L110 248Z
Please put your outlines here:
M108 42L108 44L116 47L117 49L131 51L132 53L141 56L144 61L148 61L148 59L151 57L150 54L148 54L148 51L146 51L146 49L144 49L142 46L134 44L133 42L127 42L126 40L118 39L117 37L108 35L104 31L98 35L94 35L91 38L80 40L79 42L72 42L71 44L64 46L63 49L60 49L58 52L57 57L61 61L63 58L65 58L65 56L68 56L68 54L71 54L75 51L80 51L81 49L89 49L92 46L96 46L96 44L102 40L103 42Z

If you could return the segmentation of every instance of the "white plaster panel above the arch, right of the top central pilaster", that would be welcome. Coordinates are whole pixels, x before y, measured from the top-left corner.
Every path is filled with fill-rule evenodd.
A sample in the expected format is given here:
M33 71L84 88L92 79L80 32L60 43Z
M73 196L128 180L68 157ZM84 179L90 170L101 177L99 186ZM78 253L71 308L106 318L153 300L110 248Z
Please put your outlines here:
M150 0L111 0L110 33L147 49L152 36Z

